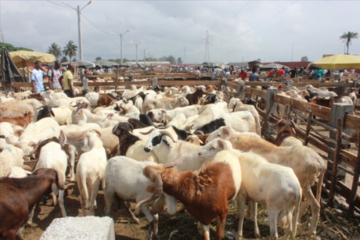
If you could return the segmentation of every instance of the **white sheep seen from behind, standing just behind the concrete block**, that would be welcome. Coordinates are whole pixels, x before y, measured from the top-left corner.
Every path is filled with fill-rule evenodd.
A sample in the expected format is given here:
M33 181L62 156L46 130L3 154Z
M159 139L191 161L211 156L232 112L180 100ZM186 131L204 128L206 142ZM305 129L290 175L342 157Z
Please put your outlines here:
M106 152L102 146L102 141L96 136L101 136L97 130L85 131L81 137L76 140L81 141L89 151L80 155L76 165L77 186L80 192L80 205L82 215L86 216L86 209L89 209L90 215L94 215L94 207L96 207L96 195L101 181L102 189L105 188L104 172L106 166ZM85 204L84 204L85 202Z

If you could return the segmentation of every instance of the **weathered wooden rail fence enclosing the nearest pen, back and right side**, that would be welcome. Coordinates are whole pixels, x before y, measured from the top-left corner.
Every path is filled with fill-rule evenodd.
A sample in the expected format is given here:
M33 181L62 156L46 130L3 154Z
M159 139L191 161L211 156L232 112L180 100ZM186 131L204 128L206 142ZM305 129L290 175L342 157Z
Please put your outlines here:
M112 76L107 74L109 77ZM106 76L107 76L106 75ZM161 74L160 74L161 75ZM103 77L103 75L101 75ZM156 76L153 74L152 76ZM162 76L162 75L161 75ZM281 79L287 86L305 86L311 84L314 87L360 87L360 81L354 80L353 83L337 83L337 82L324 82L314 80L302 80L300 82L293 82L289 79ZM327 156L322 156L327 161L326 175L324 178L324 186L322 190L328 194L328 203L332 203L335 197L335 192L344 198L349 203L348 211L360 212L360 195L357 194L357 189L360 186L360 152L357 155L351 153L343 146L348 141L353 141L349 135L351 130L360 129L360 117L354 116L351 107L344 103L335 103L332 108L311 104L308 102L298 101L292 98L284 97L277 94L277 88L269 87L278 82L238 82L231 81L226 78L210 79L209 76L201 78L194 78L193 75L175 74L165 77L154 77L152 80L146 81L107 81L107 82L88 82L86 79L82 82L75 82L75 87L87 89L90 86L103 86L103 87L126 87L132 84L136 85L208 85L212 84L222 89L227 98L231 96L258 96L263 99L263 103L257 108L262 121L262 135L269 141L274 142L274 130L269 123L275 123L281 118L276 113L276 104L287 106L286 116L291 112L296 113L300 118L306 122L306 127L296 126L296 135L303 140L304 145L310 143L318 149L327 152ZM31 88L29 82L15 82L13 85L5 84L9 90L14 88ZM46 85L46 83L45 83ZM1 84L0 86L4 86ZM268 86L267 91L258 90L246 86ZM226 90L229 88L230 91ZM358 96L359 97L359 96ZM316 116L317 119L313 119ZM321 120L319 120L320 118ZM327 122L327 123L324 123ZM314 129L313 125L318 125L328 130L330 134L325 136L319 131ZM359 142L360 143L360 142ZM346 164L346 165L345 165ZM351 170L348 170L348 167ZM351 187L346 186L342 181L338 180L338 176L345 173L352 175Z

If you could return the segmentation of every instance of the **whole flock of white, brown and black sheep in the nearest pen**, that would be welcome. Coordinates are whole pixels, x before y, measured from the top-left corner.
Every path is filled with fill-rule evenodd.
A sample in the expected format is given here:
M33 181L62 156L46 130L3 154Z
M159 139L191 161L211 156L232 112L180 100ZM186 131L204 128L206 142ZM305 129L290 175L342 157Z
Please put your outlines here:
M199 221L204 239L209 239L214 218L216 239L224 236L231 201L237 205L239 239L246 200L256 237L257 203L267 208L270 239L278 237L277 224L285 229L283 239L295 237L297 220L308 205L307 235L315 235L325 166L314 150L293 140L293 122L274 125L282 137L274 145L261 138L254 105L243 104L246 99L225 101L212 85L133 85L121 96L83 94L68 98L47 90L40 100L28 98L29 92L1 94L3 239L23 239L22 227L31 223L35 204L46 193L52 192L53 204L58 201L66 216L64 189L74 184L65 184L67 167L70 182L76 175L83 216L94 214L101 183L105 214L125 207L138 223L129 208L134 200L135 212L141 210L149 221L146 239L159 237L158 213L174 216L177 200ZM32 173L23 165L30 157L38 159ZM310 187L316 179L314 196Z

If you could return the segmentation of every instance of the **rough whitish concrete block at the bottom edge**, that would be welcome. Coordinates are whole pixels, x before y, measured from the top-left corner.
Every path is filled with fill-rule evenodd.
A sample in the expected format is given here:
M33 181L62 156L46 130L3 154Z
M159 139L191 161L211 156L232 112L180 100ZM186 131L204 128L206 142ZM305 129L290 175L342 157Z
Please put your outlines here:
M115 240L112 218L108 216L60 217L52 220L40 240Z

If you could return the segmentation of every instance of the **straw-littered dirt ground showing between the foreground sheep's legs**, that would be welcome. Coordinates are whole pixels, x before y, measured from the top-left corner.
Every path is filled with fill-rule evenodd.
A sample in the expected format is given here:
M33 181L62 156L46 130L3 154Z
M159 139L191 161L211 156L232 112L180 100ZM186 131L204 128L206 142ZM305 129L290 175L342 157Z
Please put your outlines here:
M324 132L324 134L326 134ZM310 147L314 148L310 145ZM322 155L327 156L326 152L323 152L317 148L316 151ZM357 154L357 147L352 144L350 151ZM348 175L348 174L347 174ZM352 184L352 177L346 177L346 184ZM358 191L358 193L360 193ZM320 211L320 219L317 224L317 234L312 239L360 239L360 216L355 213L354 215L346 214L346 201L340 197L340 204L335 203L333 207L326 206L327 196L322 196L323 207ZM97 209L95 210L95 216L104 216L104 195L102 189L99 190L96 197ZM77 185L69 189L68 195L64 197L64 206L67 216L82 216L81 207L79 203L79 192ZM131 209L134 209L135 204L131 203ZM238 221L235 219L236 207L230 205L230 210L227 215L225 232L225 239L232 239L231 236L237 230ZM181 204L178 203L178 212L176 213L176 219L170 219L164 214L159 215L159 235L161 239L169 239L170 233L174 230L171 239L203 239L196 230L196 221L191 218L185 210L182 209ZM145 239L145 235L148 229L148 223L142 212L137 216L140 220L140 224L133 223L125 210L119 209L117 212L111 210L110 216L114 221L114 229L116 240L137 240ZM306 236L308 224L310 222L311 210L307 209L307 212L301 217L298 223L297 239L309 239ZM51 196L47 196L46 204L39 203L35 208L33 217L33 223L31 226L26 226L23 231L23 235L26 240L38 240L42 232L56 218L61 217L61 211L58 205L52 205ZM264 207L258 207L258 225L260 229L261 238L268 239L269 226L266 220L266 209ZM212 225L210 236L214 238L214 227ZM282 236L283 231L280 227L277 227L279 236ZM243 226L244 239L256 239L253 236L253 221L244 220ZM290 238L291 239L291 238Z

